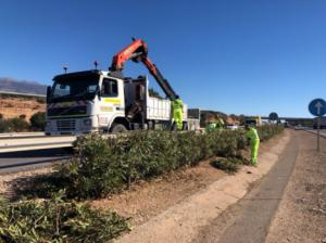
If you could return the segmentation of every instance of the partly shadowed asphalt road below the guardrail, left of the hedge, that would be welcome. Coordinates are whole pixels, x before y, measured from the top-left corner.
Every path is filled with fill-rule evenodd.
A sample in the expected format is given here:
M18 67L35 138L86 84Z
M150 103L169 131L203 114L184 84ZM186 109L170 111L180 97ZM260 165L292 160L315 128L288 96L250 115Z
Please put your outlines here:
M0 174L30 170L64 162L72 153L63 149L0 153Z

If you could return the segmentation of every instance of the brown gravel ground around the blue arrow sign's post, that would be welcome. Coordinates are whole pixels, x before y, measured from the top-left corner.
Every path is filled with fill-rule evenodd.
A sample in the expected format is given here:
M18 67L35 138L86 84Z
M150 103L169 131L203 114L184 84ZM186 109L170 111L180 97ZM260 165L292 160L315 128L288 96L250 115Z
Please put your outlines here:
M299 136L300 152L267 235L267 243L326 242L326 139L316 152L316 137Z

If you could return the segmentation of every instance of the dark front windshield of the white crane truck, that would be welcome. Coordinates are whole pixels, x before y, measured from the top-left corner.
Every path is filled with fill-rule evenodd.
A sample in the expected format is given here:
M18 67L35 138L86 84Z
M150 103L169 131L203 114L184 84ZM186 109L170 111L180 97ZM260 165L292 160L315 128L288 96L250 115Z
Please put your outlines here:
M70 77L57 79L50 101L92 100L98 91L99 77Z

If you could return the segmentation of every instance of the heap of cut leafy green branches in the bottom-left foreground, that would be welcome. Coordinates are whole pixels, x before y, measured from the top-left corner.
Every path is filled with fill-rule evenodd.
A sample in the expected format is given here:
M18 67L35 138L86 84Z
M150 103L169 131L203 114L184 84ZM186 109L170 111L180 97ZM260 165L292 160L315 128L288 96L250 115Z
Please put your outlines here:
M114 212L65 202L61 191L50 200L10 203L0 197L0 242L108 242L128 230Z

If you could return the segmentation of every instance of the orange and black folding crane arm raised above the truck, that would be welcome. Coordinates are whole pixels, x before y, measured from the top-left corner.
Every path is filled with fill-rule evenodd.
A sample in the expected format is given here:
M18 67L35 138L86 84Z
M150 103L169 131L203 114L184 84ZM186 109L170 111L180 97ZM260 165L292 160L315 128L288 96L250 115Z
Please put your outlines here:
M148 54L148 47L147 43L141 40L135 40L130 43L128 47L123 49L121 52L118 52L116 55L112 59L112 64L110 67L111 72L121 72L124 68L125 62L128 60L133 60L134 62L142 62L143 65L148 68L150 74L155 78L161 89L164 91L166 97L171 100L176 99L177 94L168 84L168 81L163 77L161 72L158 69L155 64L153 64L149 57Z

